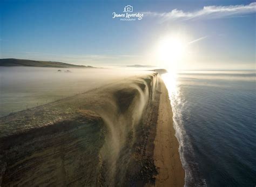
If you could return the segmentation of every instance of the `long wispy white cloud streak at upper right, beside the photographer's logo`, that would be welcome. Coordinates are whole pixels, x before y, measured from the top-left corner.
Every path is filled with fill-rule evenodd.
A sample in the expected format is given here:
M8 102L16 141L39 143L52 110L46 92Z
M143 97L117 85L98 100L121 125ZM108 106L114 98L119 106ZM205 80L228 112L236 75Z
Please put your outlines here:
M160 17L168 20L213 19L230 16L244 16L256 12L256 2L248 5L204 6L203 9L193 12L173 9L171 12L145 12L146 16Z

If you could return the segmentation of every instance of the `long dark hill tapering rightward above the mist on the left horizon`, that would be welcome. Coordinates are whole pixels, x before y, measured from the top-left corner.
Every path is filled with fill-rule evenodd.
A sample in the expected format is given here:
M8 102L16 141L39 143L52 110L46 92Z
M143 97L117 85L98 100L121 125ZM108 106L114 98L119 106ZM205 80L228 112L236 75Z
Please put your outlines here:
M31 66L31 67L58 67L58 68L92 68L92 66L79 66L57 61L23 60L15 58L0 59L0 66Z

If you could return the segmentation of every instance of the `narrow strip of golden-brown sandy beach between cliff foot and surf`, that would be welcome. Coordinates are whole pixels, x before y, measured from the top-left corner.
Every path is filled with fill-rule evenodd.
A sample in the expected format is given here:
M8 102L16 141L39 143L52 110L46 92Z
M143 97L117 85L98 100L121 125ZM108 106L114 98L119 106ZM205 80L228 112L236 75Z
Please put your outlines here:
M179 143L172 121L172 108L163 80L160 82L160 103L157 134L154 140L154 163L158 169L155 186L184 186L185 171L179 156Z

